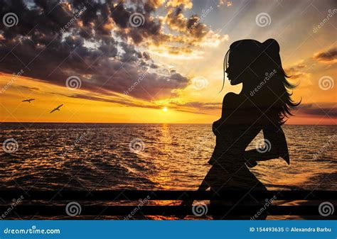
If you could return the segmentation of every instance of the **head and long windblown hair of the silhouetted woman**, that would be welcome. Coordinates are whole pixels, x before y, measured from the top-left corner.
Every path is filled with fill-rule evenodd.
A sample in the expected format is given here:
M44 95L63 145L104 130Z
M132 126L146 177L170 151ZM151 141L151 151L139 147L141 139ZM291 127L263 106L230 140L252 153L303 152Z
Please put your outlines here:
M231 62L229 69L228 62L232 58L235 58L234 64ZM223 65L223 86L225 72L230 73L231 84L243 82L245 92L242 93L279 124L285 123L292 116L291 109L301 103L291 99L291 89L297 85L288 82L289 76L284 72L279 56L279 43L274 39L264 43L250 39L232 43Z

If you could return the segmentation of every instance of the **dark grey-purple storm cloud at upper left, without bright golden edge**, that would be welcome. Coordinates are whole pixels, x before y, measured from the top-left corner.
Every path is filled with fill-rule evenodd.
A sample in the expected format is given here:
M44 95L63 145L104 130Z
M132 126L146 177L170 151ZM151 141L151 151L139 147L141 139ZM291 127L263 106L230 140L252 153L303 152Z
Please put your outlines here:
M12 27L1 23L0 71L24 69L26 77L63 87L68 77L77 76L81 89L107 95L123 93L140 75L146 75L129 95L148 100L173 96L172 91L185 88L188 79L177 72L162 74L163 69L157 69L151 57L135 47L145 38L165 38L160 33L161 22L150 17L151 6L156 5L1 1L0 15L13 12L19 21ZM75 18L77 11L82 14ZM134 12L144 14L144 25L139 28L129 23Z

